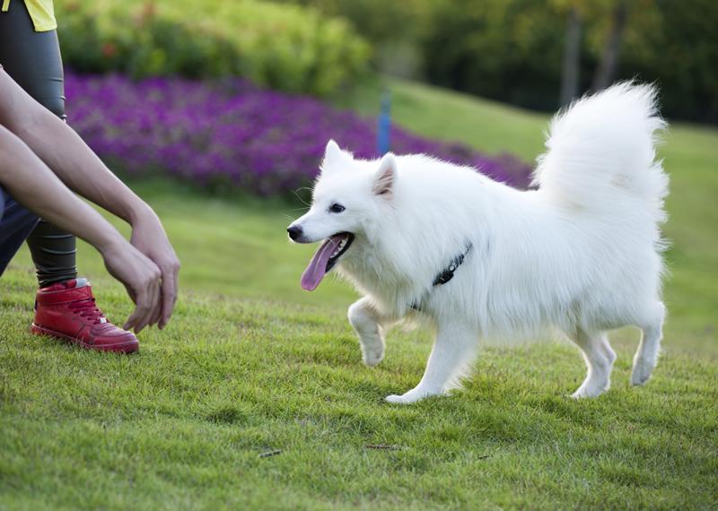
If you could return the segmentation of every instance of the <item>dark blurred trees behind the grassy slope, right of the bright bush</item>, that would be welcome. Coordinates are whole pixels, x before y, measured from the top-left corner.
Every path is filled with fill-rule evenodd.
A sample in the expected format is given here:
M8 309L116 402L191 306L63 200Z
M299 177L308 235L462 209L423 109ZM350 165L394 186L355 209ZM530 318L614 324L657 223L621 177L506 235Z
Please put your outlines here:
M274 1L345 16L382 73L546 110L636 77L664 114L718 121L716 0Z

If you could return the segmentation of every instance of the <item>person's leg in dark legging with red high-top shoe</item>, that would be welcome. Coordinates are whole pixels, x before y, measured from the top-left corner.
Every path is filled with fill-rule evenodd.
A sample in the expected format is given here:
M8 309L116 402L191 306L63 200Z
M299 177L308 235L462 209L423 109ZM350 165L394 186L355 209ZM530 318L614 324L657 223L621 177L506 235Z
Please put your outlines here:
M65 119L62 58L55 30L36 32L24 2L0 13L0 64L35 100ZM39 221L28 238L38 270L31 332L101 351L137 351L133 333L112 325L95 304L90 284L78 279L75 238Z

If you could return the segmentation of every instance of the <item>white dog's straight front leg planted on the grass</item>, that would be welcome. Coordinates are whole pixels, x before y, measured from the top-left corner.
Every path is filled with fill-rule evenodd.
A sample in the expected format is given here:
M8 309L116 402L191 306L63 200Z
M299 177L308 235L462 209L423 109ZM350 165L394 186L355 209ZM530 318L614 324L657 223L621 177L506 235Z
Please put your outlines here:
M458 385L473 362L478 335L474 328L460 323L439 325L432 353L419 385L403 395L390 395L390 403L414 403L431 395L445 394Z

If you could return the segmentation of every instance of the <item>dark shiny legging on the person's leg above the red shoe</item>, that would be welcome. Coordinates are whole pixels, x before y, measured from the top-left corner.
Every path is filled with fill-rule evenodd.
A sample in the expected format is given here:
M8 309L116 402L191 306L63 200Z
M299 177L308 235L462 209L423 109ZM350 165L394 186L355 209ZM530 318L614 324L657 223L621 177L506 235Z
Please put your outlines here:
M65 87L57 32L36 32L22 0L0 13L0 64L35 100L65 119ZM75 238L40 220L28 238L41 287L74 279Z

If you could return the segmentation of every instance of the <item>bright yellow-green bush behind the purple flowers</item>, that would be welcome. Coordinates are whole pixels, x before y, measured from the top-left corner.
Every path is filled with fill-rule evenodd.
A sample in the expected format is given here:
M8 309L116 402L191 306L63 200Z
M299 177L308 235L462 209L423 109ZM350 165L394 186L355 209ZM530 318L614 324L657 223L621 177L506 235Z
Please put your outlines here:
M240 75L326 95L366 70L369 46L311 8L242 0L56 0L66 65L135 78Z

